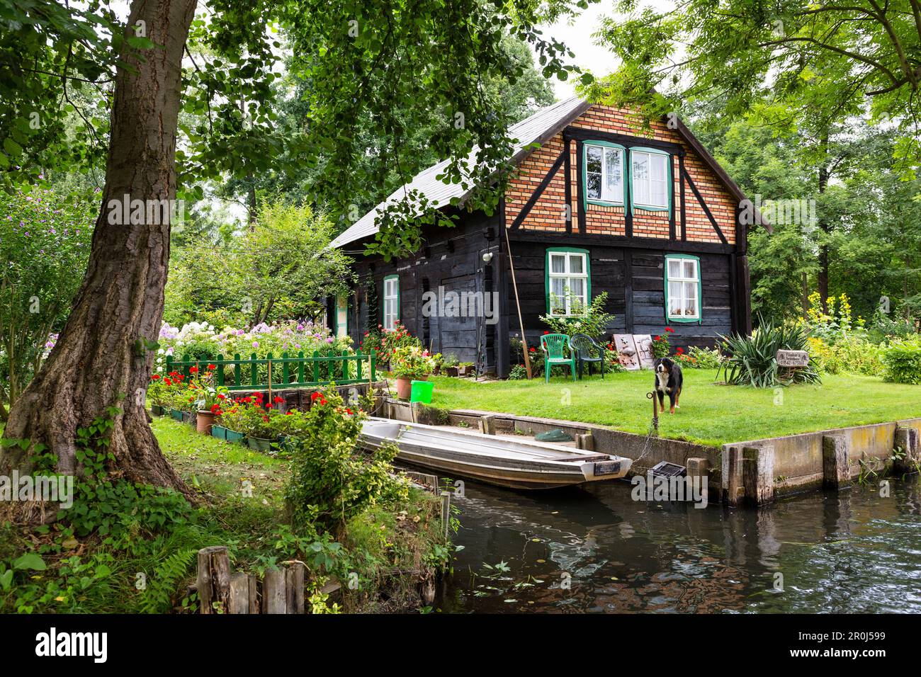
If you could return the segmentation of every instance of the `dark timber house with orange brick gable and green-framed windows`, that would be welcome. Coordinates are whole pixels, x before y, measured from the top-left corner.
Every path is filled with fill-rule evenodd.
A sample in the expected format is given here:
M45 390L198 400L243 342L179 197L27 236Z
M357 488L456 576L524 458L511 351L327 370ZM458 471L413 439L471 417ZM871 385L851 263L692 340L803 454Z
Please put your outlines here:
M770 227L680 120L643 130L628 111L567 99L510 134L518 171L493 215L461 210L456 228L427 228L419 251L389 263L364 255L379 207L334 240L359 279L332 309L338 333L357 344L399 320L433 351L506 376L521 324L536 345L541 315L576 315L601 292L610 333L670 326L689 346L751 332L747 233ZM452 209L465 193L437 181L443 166L408 187Z

